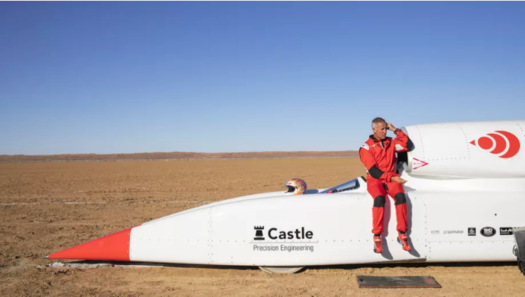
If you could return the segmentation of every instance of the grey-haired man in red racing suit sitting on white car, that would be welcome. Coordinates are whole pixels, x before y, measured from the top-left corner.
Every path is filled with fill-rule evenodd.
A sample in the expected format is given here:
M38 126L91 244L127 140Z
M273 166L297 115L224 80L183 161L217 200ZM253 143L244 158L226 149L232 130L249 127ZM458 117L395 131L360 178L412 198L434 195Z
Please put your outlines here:
M395 139L386 136L387 128L397 136ZM366 187L373 197L372 221L374 234L374 252L383 252L381 234L383 233L383 214L385 197L388 194L395 200L397 219L397 242L403 250L410 251L407 238L407 199L403 184L407 182L395 172L395 153L407 151L407 134L396 129L393 124L380 117L372 121L372 131L368 140L359 148L359 157L365 165Z

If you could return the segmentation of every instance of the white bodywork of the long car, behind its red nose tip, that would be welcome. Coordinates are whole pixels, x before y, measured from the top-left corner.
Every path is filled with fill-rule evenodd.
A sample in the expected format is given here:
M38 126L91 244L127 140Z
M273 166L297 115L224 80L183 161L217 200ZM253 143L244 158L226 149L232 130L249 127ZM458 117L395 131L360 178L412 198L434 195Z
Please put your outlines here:
M412 252L395 240L392 199L385 205L383 253L373 252L373 199L358 177L354 187L342 192L254 194L143 223L130 229L129 260L261 267L515 260L512 228L525 226L525 156L520 148L525 121L402 129L413 142L410 151L398 156L398 170L407 180ZM494 144L488 147L491 139ZM112 260L103 254L83 257L75 248L50 257Z

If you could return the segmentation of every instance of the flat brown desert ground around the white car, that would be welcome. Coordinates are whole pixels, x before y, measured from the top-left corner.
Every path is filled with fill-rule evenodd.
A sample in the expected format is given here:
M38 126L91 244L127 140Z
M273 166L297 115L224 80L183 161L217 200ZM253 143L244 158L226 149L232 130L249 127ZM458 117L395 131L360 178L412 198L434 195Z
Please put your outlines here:
M7 161L6 161L7 162ZM0 163L0 296L525 296L514 262L307 267L47 267L52 252L210 202L363 175L356 158ZM372 248L372 247L371 247ZM72 262L72 261L63 261ZM434 276L442 289L359 289L356 276Z

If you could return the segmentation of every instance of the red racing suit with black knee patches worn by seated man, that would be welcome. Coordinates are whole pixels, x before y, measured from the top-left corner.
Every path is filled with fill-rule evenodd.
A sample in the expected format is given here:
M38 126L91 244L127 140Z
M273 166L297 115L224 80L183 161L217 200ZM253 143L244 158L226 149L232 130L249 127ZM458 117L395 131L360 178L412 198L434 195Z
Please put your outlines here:
M395 200L395 216L397 231L407 232L407 199L402 184L391 182L395 173L395 153L407 151L407 134L400 129L395 129L395 139L386 137L383 140L371 135L359 148L359 157L365 165L366 188L373 197L372 207L372 233L383 233L383 214L385 197L388 194Z

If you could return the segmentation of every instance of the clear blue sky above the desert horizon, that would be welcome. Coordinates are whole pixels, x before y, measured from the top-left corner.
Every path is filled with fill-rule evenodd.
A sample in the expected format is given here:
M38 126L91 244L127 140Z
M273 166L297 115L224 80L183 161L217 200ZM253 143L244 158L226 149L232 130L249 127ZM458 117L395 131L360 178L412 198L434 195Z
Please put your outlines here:
M525 118L525 2L0 2L0 154L357 150Z

